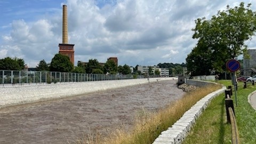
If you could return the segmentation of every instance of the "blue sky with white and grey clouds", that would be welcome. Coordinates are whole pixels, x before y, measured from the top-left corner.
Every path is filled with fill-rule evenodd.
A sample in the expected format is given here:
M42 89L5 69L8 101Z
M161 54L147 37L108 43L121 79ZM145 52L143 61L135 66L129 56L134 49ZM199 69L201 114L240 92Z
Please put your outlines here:
M77 61L154 66L186 63L196 46L197 18L211 19L246 0L0 0L0 59L17 57L28 67L50 63L62 43L62 5L68 9L68 43ZM256 49L256 37L247 41Z

